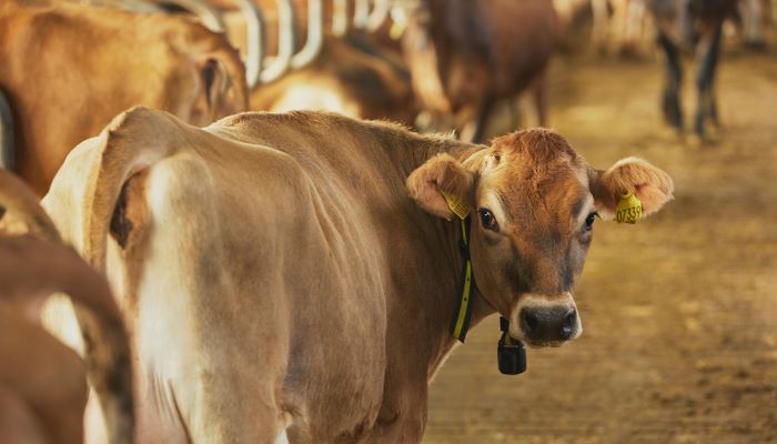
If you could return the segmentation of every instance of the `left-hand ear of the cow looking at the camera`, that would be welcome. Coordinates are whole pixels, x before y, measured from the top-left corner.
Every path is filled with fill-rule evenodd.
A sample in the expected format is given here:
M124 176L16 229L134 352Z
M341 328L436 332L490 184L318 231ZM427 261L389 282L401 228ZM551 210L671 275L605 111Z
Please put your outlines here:
M437 154L410 174L406 186L418 206L451 220L454 213L445 195L468 202L472 199L473 182L474 174L461 162L450 154Z

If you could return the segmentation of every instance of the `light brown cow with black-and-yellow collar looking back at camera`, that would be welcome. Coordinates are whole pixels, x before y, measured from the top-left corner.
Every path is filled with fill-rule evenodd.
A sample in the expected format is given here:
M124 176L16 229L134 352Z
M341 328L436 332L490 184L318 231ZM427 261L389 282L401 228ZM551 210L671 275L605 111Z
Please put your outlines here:
M598 211L670 178L589 167L548 130L491 147L314 112L205 129L133 109L73 150L44 199L105 269L138 353L141 442L418 442L451 352L461 229L471 322L531 345L577 337L572 297ZM410 193L410 196L408 196Z

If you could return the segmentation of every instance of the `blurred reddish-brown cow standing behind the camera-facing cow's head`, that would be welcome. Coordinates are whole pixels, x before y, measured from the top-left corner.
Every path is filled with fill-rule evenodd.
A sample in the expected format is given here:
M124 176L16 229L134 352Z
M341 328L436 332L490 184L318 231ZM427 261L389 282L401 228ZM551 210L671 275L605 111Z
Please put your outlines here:
M544 73L559 28L551 0L405 0L402 48L422 108L454 115L480 141L492 109L533 89L547 122Z

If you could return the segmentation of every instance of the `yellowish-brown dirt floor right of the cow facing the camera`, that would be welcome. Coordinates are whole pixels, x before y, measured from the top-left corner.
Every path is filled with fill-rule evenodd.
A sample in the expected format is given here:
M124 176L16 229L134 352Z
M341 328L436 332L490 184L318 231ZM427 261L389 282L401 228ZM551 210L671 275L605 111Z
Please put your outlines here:
M599 168L638 155L666 169L676 200L635 226L596 224L583 336L529 350L527 373L498 374L497 319L478 325L432 384L424 443L777 443L770 48L726 51L725 129L704 145L663 125L656 60L556 62L552 125Z

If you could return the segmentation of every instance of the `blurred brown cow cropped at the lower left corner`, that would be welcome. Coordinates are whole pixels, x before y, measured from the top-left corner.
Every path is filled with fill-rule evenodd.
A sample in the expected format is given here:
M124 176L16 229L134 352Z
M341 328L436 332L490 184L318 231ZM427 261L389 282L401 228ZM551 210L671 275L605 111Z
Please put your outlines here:
M108 283L59 242L33 192L4 170L0 210L0 442L82 443L89 374L108 412L110 442L131 443L129 343ZM20 231L30 234L9 235ZM40 325L39 310L53 292L79 306L85 363Z

